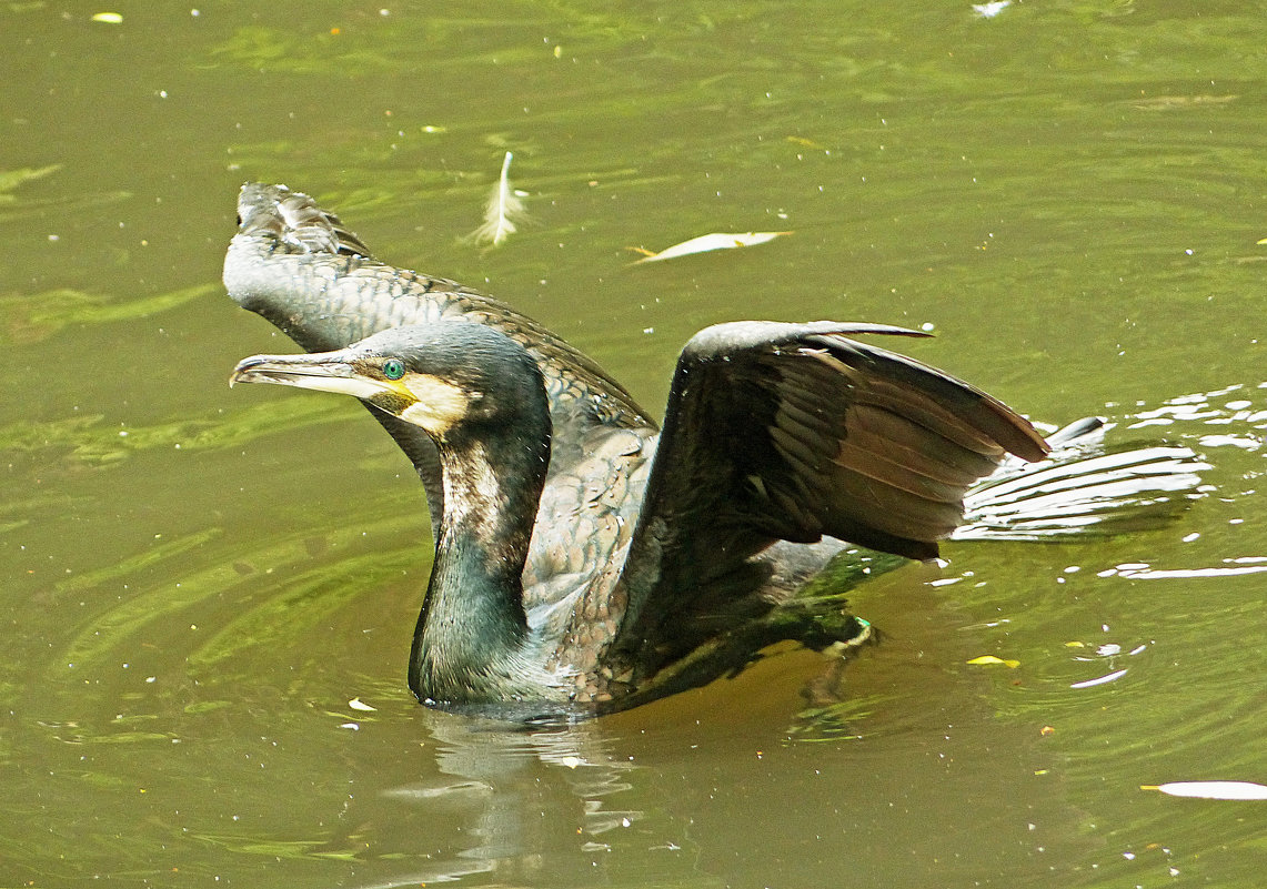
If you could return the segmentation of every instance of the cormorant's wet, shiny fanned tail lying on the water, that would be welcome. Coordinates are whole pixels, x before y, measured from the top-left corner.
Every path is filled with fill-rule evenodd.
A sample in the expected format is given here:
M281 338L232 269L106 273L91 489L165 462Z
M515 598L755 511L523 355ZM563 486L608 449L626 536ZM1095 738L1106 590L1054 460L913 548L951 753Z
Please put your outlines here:
M1157 527L1201 496L1210 469L1176 445L1105 450L1111 428L1091 417L1048 437L1036 463L1009 460L964 496L952 539L1043 541Z

